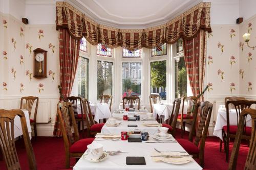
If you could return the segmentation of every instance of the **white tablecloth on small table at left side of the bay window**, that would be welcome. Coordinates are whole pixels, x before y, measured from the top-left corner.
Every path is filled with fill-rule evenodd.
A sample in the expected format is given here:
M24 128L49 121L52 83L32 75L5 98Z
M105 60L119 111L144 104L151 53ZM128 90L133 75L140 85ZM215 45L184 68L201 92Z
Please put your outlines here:
M100 119L109 118L111 116L110 106L108 104L91 104L90 105L94 120L99 123ZM80 104L77 104L77 112L81 114Z

